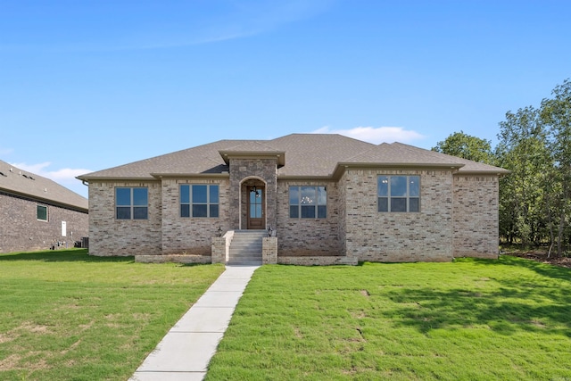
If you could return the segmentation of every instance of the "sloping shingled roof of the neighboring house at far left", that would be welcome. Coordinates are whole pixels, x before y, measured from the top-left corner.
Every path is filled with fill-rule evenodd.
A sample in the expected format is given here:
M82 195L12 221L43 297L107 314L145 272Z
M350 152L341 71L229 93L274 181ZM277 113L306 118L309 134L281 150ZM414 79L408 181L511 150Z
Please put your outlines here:
M87 198L0 160L0 192L87 212Z

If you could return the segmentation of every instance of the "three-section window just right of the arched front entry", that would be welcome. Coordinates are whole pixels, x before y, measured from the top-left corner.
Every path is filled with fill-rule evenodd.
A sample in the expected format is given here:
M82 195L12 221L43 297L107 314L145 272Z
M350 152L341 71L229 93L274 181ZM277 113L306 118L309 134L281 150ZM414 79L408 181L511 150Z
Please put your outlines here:
M327 218L327 187L290 186L289 217L291 219Z

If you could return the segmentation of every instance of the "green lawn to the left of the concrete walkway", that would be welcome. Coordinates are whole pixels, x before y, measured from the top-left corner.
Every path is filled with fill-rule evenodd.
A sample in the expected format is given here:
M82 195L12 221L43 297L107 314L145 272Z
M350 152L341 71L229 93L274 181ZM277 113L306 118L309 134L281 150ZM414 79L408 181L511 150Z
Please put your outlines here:
M0 379L126 380L223 270L0 254Z

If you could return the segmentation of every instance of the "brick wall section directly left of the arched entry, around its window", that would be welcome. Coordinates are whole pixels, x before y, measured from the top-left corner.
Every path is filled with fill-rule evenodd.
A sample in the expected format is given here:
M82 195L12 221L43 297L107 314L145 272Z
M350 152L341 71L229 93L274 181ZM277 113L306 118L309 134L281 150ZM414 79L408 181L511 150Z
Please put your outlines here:
M180 217L181 184L219 186L219 217ZM211 237L229 228L229 182L226 178L162 179L162 254L211 255Z

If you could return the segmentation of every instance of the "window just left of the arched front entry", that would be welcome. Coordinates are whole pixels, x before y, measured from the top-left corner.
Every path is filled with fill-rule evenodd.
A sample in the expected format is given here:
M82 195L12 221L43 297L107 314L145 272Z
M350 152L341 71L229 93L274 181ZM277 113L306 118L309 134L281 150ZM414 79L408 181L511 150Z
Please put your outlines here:
M219 186L180 186L180 217L218 217Z

